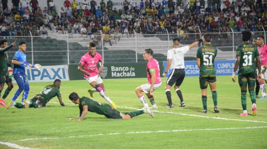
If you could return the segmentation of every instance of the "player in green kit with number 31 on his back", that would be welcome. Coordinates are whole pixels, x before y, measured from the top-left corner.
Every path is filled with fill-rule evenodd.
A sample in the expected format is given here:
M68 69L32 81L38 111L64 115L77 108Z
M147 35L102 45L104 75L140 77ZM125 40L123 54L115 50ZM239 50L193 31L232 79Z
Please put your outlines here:
M261 61L259 58L258 49L255 45L250 44L251 33L250 31L242 32L243 44L238 45L236 48L236 61L234 64L234 72L232 75L232 80L235 82L235 72L238 70L238 83L241 88L241 104L243 108L243 113L241 116L248 116L247 112L247 86L249 86L250 99L252 102L252 116L256 116L256 94L255 88L255 61L257 62L257 67L259 72L261 72ZM261 75L258 74L258 79Z

